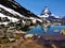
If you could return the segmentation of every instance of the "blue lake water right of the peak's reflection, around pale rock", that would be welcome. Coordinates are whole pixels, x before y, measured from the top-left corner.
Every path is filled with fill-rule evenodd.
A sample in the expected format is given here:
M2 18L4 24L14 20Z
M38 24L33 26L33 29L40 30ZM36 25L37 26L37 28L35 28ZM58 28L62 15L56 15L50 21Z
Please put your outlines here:
M65 26L54 26L50 28L50 30L48 31L48 34L61 34L62 30L65 30Z

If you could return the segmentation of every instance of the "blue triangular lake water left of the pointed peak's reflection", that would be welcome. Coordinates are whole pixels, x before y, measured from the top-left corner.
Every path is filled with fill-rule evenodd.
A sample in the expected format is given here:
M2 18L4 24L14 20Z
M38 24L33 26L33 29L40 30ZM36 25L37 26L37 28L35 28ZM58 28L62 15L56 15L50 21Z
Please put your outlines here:
M44 34L44 31L43 31L42 27L38 25L36 28L27 31L27 34L28 33L29 34Z

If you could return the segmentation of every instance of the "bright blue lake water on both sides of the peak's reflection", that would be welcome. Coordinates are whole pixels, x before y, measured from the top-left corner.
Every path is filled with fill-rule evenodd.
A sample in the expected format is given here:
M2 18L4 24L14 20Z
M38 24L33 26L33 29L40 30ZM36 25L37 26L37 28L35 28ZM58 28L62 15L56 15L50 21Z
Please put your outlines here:
M55 32L56 30L56 32ZM65 30L65 26L53 26L49 28L47 34L60 34L62 30ZM44 31L41 26L37 26L35 29L27 31L29 34L44 34Z

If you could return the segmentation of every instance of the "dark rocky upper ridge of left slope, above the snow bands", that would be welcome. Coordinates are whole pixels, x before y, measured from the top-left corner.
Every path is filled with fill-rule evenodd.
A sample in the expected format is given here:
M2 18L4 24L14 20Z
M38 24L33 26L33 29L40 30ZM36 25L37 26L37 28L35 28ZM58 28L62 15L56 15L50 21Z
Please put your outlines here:
M29 10L26 10L24 6L22 6L20 3L17 3L15 0L3 0L0 1L0 3L9 9L14 10L15 12L20 13L21 15L24 15L25 17L37 17L34 13L31 13Z

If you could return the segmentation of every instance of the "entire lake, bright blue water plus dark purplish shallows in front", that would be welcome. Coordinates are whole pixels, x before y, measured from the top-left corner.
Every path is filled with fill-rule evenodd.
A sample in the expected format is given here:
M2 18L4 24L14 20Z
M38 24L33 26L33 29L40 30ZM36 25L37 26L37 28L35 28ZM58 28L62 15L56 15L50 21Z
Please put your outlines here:
M65 35L61 35L61 31L65 30L65 26L53 26L47 29L48 31L44 32L44 27L38 25L36 28L27 31L27 34L40 34L35 35L34 39L47 48L65 48Z

